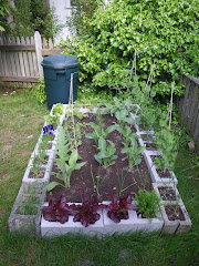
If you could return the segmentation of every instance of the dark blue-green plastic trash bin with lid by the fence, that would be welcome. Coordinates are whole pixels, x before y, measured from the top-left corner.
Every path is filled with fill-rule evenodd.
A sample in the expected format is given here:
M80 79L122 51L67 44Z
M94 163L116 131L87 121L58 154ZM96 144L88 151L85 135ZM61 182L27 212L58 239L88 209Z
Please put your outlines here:
M44 72L48 108L55 103L69 103L71 74L73 76L73 101L77 99L78 60L69 54L54 54L41 63Z

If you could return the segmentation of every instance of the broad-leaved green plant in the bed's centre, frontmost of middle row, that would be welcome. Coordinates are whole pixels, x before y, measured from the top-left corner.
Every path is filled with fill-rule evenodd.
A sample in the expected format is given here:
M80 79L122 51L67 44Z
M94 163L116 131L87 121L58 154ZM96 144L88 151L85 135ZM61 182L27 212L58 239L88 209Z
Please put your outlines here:
M107 145L107 142L109 143L109 145ZM101 136L98 140L100 153L94 155L95 160L101 165L104 165L105 168L115 164L114 160L117 158L117 155L114 155L116 151L115 144L112 141L107 142Z

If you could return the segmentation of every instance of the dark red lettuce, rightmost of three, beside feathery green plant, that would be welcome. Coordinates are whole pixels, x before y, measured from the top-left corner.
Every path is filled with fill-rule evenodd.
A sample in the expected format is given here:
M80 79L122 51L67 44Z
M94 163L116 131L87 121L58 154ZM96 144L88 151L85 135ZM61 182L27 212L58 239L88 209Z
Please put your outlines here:
M107 216L115 223L119 223L121 219L128 219L128 209L137 211L137 207L132 203L132 196L117 198L112 194L107 194L112 203L105 207Z

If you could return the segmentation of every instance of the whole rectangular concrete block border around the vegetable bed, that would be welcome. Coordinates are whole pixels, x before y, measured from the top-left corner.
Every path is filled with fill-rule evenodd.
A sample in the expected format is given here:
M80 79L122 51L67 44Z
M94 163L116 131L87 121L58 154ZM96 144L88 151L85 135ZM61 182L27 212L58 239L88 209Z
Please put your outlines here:
M44 204L45 200L45 187L49 183L50 180L50 172L53 166L53 160L55 156L55 146L54 144L56 143L57 140L57 131L59 127L63 124L65 120L65 114L66 112L70 112L67 109L67 104L64 104L64 111L63 114L60 116L60 125L57 129L54 131L54 140L51 141L52 147L46 151L46 155L49 155L49 160L46 165L43 165L45 167L45 175L43 178L29 178L28 175L30 173L30 168L32 165L32 160L39 152L39 145L41 143L41 139L43 136L43 132L41 132L41 135L39 137L39 141L35 145L35 149L31 155L31 158L29 161L28 167L25 170L23 180L22 180L22 186L19 191L19 194L15 198L15 203L13 205L12 212L9 217L9 228L11 232L17 232L17 231L22 231L22 232L28 232L32 235L36 236L53 236L53 235L62 235L66 234L69 232L80 232L83 234L88 234L88 235L97 235L98 237L102 237L103 235L112 235L114 233L123 234L125 232L136 232L136 231L145 231L145 232L151 232L151 231L163 231L163 233L167 234L174 234L174 233L185 233L188 232L191 227L191 221L188 216L188 213L186 211L186 207L179 196L178 204L182 209L182 213L186 217L186 221L168 221L164 204L160 205L160 214L159 218L154 218L151 222L146 218L140 218L137 216L137 213L135 211L128 211L129 213L129 219L124 219L119 224L115 224L112 219L107 217L106 211L98 211L101 214L101 219L97 221L94 225L90 225L88 227L84 227L81 225L81 223L74 223L73 217L70 216L69 222L65 223L64 225L57 223L57 222L48 222L44 221L42 217L42 206ZM80 108L78 112L82 113L96 113L97 108L90 109L90 105L86 105L85 109ZM103 108L101 110L104 110ZM52 115L52 111L50 113ZM137 115L130 114L135 120ZM46 123L44 124L44 126ZM134 124L136 129L136 134L140 135L142 134L154 134L154 131L140 131L139 126L137 124ZM139 145L145 146L146 143L143 141L143 139L138 139ZM169 185L176 188L176 185L178 183L175 174L172 171L170 171L170 174L172 178L160 178L159 175L157 174L157 166L153 165L151 161L151 155L161 155L157 151L144 151L143 155L145 157L146 164L149 168L151 181L153 181L153 186L156 190L158 194L158 186L159 185ZM177 188L176 188L177 191ZM178 193L178 191L177 191ZM19 213L19 207L21 202L23 202L25 198L30 197L31 195L34 195L39 201L35 205L38 208L38 213L33 215L24 215ZM159 195L159 194L158 194ZM178 193L179 195L179 193ZM163 201L161 201L163 202ZM176 204L172 202L169 202L169 204Z

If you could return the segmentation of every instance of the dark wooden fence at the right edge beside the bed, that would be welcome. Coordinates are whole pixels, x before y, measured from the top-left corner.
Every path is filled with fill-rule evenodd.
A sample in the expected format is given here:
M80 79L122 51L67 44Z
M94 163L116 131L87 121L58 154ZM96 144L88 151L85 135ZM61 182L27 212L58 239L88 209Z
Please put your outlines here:
M178 101L180 121L199 151L199 80L180 75L180 82L186 86L185 96Z

